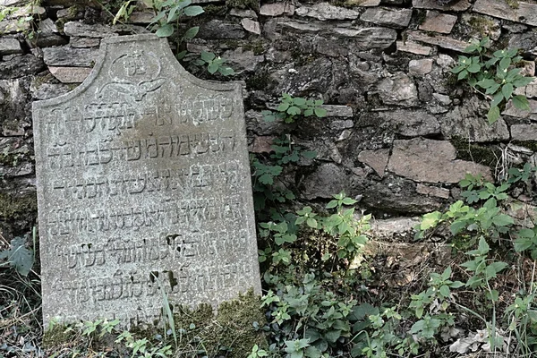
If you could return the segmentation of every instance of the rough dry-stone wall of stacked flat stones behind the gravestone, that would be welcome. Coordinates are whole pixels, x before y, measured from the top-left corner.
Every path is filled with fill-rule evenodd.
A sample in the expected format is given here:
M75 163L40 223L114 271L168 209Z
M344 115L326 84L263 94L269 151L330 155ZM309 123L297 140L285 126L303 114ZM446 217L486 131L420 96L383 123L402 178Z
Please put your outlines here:
M23 1L0 0L19 6ZM108 25L98 3L44 0L21 18L0 21L0 230L30 230L36 220L31 102L76 87L90 72L101 38L147 32L151 15ZM120 3L120 2L115 2ZM275 136L318 152L289 166L286 184L304 201L345 190L377 217L439 209L465 173L490 179L513 164L535 165L537 82L524 89L532 112L507 105L490 126L488 103L449 72L472 38L537 56L533 0L336 0L332 3L203 4L188 49L228 59L245 82L251 150ZM114 4L105 4L114 8ZM31 13L35 21L25 21ZM217 80L195 70L197 75ZM328 117L265 123L282 92L322 98Z

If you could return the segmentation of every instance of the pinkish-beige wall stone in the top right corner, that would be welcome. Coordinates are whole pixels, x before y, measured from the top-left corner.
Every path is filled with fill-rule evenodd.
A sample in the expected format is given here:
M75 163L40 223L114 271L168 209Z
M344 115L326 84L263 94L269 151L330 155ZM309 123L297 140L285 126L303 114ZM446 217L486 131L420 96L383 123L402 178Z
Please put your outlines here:
M510 6L505 0L477 0L473 5L473 11L537 26L537 4L517 1L516 6Z

